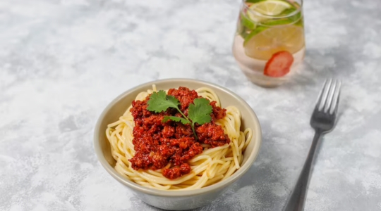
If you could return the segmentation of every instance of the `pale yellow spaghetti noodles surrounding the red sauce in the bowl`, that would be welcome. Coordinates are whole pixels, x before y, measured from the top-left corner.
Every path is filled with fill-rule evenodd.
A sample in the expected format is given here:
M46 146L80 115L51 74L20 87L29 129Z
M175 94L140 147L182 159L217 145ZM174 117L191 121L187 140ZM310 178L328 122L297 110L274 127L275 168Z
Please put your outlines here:
M155 85L152 89L138 94L135 100L143 101L154 91L157 91ZM216 106L221 105L217 94L212 89L202 87L195 91L198 96L216 101ZM230 143L214 148L211 148L209 144L202 144L202 153L188 160L191 172L176 179L167 179L162 175L162 170L133 170L131 167L131 162L128 160L133 158L135 150L132 142L134 120L130 109L131 106L119 117L118 121L108 125L106 136L111 146L111 155L116 160L115 170L136 184L150 188L169 191L191 190L227 179L241 166L243 151L253 136L250 128L240 131L241 113L238 108L228 106L226 116L217 120L216 124L222 126L231 140Z

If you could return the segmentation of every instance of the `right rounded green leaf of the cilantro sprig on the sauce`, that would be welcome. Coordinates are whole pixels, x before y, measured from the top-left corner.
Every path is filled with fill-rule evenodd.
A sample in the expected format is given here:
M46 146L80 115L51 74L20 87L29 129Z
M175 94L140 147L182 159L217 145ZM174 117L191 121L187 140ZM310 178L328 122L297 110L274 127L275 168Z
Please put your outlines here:
M195 98L193 104L189 105L188 117L192 120L192 124L205 124L212 121L210 114L213 108L205 98Z

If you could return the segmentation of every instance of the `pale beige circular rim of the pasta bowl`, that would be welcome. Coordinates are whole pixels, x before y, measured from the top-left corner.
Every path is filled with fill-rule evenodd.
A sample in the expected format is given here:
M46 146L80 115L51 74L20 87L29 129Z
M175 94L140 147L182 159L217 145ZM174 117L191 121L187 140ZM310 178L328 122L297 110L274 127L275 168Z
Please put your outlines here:
M212 89L219 89L221 91L226 92L227 94L233 96L238 103L243 104L244 107L248 108L248 112L250 113L250 117L253 117L253 120L255 122L255 128L253 128L253 131L256 133L253 134L252 140L256 140L257 143L255 143L255 146L253 148L253 151L250 153L248 160L246 160L245 164L242 165L234 174L232 174L228 179L225 179L224 181L219 181L216 184L212 184L210 186L207 186L205 188L199 188L195 190L180 190L180 191L167 191L167 190L159 190L159 189L154 189L154 188L148 188L145 186L141 186L139 184L136 184L135 182L126 179L125 177L122 177L121 174L116 172L114 167L111 167L109 165L109 162L107 162L106 158L104 158L104 155L102 153L102 149L99 145L99 129L102 120L104 117L106 117L106 113L111 109L112 106L114 106L115 103L118 101L121 101L122 98L126 97L128 94L131 94L133 91L136 89L142 89L143 87L147 87L152 84L157 84L157 83L163 83L163 82L196 82L202 84L206 84L209 87L212 87ZM243 100L240 96L235 94L233 91L230 91L229 89L226 89L225 87L219 86L217 84L213 84L210 82L206 82L203 80L199 79L186 79L186 78L171 78L171 79L158 79L158 80L153 80L150 82L145 82L144 84L140 84L138 86L132 87L131 89L128 89L127 91L124 91L122 94L114 98L111 103L109 103L106 108L102 111L101 115L98 117L97 123L95 124L95 129L94 129L94 148L95 148L95 153L97 155L97 158L101 165L104 167L104 169L112 176L114 179L119 181L121 184L124 184L128 186L128 188L132 188L135 191L140 191L143 193L147 193L150 195L154 196L176 196L176 197L184 197L184 196L195 196L199 194L205 194L208 192L212 191L217 191L220 188L224 188L225 186L228 186L232 182L236 181L240 177L245 174L250 167L253 165L253 162L256 160L259 154L259 149L262 143L262 130L260 127L260 122L258 120L257 115L255 115L255 112L253 111L253 108L251 108L246 101Z

